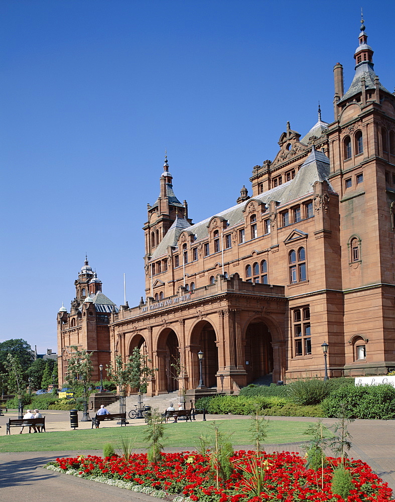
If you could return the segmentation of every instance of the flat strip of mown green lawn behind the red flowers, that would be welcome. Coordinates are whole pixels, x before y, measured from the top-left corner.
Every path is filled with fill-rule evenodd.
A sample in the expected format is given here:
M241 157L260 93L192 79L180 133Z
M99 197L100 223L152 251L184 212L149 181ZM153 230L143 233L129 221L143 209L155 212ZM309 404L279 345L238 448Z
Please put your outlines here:
M192 422L167 424L164 446L193 449L197 438L203 434L212 433L212 422ZM218 420L220 430L225 434L232 434L234 445L251 444L248 432L249 420ZM293 443L306 441L308 436L303 432L310 424L308 422L270 422L268 438L270 443ZM101 450L105 443L119 444L119 438L127 435L134 441L134 448L145 448L143 440L145 426L111 427L102 429L75 430L65 432L50 432L43 434L13 434L0 436L0 452L18 451L58 451L58 450ZM15 429L14 429L15 430Z

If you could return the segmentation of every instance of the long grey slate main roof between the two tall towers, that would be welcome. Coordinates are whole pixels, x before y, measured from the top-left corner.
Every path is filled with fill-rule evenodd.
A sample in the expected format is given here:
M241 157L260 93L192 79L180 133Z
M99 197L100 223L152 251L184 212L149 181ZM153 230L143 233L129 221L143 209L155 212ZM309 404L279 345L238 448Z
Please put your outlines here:
M320 151L312 149L312 152L307 157L295 178L287 183L278 187L272 188L267 192L261 193L255 200L259 200L269 204L272 200L280 202L280 205L287 204L293 200L313 192L313 184L316 181L327 180L330 173L329 159ZM327 180L328 181L328 180ZM330 190L334 192L333 187L329 184ZM243 209L248 204L250 199L241 204L236 204L224 211L213 214L209 218L190 225L189 222L183 218L177 218L173 225L170 227L166 235L163 237L159 246L155 249L151 259L156 260L167 254L168 246L176 246L178 238L183 230L186 228L188 231L195 234L195 240L201 240L207 237L207 225L213 216L221 216L228 221L228 228L238 225L244 221Z

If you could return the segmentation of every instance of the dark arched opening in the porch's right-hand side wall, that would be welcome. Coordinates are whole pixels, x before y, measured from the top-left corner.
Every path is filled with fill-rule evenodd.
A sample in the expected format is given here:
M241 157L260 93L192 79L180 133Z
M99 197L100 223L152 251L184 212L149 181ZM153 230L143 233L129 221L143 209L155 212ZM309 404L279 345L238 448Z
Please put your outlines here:
M263 321L253 320L249 323L245 332L244 353L247 384L273 372L272 336Z

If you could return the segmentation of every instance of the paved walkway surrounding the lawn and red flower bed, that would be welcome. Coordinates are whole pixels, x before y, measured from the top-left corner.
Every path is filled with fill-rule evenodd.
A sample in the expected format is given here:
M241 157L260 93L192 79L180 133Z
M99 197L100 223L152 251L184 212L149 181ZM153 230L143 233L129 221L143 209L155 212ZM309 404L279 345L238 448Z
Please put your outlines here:
M67 412L46 411L48 422L47 432L70 430L69 414ZM0 445L7 438L6 422L15 414L0 417ZM81 417L79 417L81 418ZM231 420L229 415L208 415L207 420ZM201 416L198 416L201 420ZM315 422L317 419L308 417L270 417L273 421ZM130 425L141 425L143 421L130 420ZM325 425L332 425L336 419L325 418ZM112 422L106 422L108 427L119 427ZM90 428L90 423L79 423L80 429ZM15 431L16 429L14 429ZM360 458L388 483L395 492L395 420L355 420L349 425L352 435L350 456ZM236 449L249 448L239 445ZM301 443L284 445L265 445L267 451L300 451ZM165 451L182 451L182 449L165 448ZM54 471L43 469L48 461L59 456L74 456L76 454L97 454L92 451L53 451L53 452L23 452L0 453L0 500L3 502L26 502L32 497L40 502L63 502L64 500L99 500L111 499L112 502L136 500L136 502L154 502L157 498L142 493L130 492L116 486L109 486L94 481L87 481L75 476L66 476ZM99 452L101 454L101 451Z

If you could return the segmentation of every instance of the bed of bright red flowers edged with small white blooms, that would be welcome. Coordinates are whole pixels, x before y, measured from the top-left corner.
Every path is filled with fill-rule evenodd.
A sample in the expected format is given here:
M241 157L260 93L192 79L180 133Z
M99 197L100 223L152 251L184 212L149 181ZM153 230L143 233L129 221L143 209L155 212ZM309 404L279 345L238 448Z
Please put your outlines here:
M294 452L262 452L258 463L265 466L265 479L260 495L251 496L245 493L251 477L245 477L244 472L250 471L254 458L254 452L237 451L231 457L234 465L231 477L227 481L219 480L218 489L209 457L189 452L162 453L162 461L157 464L149 462L146 454L134 454L129 462L121 457L103 459L91 455L57 458L47 468L159 497L166 495L162 490L181 494L174 498L175 502L343 501L331 491L333 467L338 465L339 459L328 458L329 464L322 476L321 470L306 469L305 459ZM394 502L391 489L366 463L351 459L346 468L351 472L355 487L347 502Z

